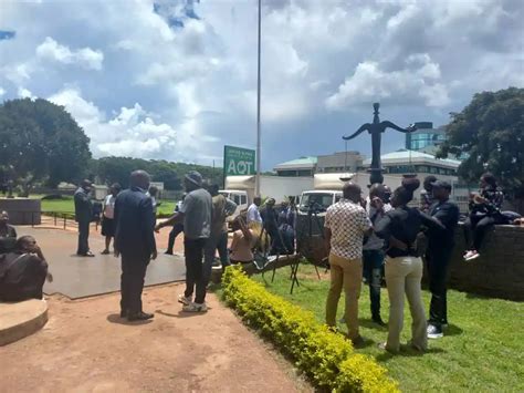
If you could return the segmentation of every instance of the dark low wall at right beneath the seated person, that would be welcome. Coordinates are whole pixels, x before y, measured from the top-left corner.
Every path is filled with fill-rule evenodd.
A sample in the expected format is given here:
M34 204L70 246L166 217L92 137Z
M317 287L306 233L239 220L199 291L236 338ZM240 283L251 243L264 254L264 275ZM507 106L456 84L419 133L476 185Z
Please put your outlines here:
M481 257L464 262L462 228L449 269L450 288L495 298L524 300L524 227L495 226L486 236Z

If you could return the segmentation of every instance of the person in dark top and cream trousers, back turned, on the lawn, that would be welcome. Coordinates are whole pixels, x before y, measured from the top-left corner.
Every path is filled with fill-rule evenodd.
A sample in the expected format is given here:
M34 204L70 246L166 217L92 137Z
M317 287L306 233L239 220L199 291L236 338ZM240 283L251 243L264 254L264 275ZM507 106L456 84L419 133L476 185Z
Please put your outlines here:
M421 290L423 268L417 249L417 236L422 226L442 230L444 227L425 213L407 206L419 185L418 179L412 179L398 187L391 198L394 210L388 211L375 227L377 236L386 241L386 283L389 296L388 339L379 347L391 352L400 349L405 296L412 318L410 345L418 351L426 351L428 348Z

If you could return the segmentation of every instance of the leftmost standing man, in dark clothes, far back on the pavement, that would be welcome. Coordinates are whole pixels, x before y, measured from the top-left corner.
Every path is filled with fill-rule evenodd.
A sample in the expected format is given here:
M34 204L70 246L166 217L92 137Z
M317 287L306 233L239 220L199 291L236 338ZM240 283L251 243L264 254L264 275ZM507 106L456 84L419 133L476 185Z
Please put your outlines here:
M81 257L94 257L90 251L90 223L93 220L93 204L91 201L91 182L83 180L74 193L74 216L78 223L78 248L76 255Z

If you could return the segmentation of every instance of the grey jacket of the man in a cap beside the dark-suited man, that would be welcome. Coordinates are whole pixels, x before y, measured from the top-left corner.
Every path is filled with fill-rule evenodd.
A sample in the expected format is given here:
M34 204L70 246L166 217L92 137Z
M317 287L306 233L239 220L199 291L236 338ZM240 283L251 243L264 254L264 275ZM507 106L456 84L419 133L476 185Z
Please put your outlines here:
M180 209L184 213L184 236L189 240L207 239L211 234L211 194L198 188L186 195Z

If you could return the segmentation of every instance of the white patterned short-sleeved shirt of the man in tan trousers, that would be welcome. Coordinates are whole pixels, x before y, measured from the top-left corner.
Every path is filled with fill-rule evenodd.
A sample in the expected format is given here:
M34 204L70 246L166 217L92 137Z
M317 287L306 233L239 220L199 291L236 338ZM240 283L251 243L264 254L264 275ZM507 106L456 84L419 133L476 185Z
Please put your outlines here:
M332 231L332 254L347 259L361 258L364 234L371 223L360 205L340 199L327 208L324 226Z

